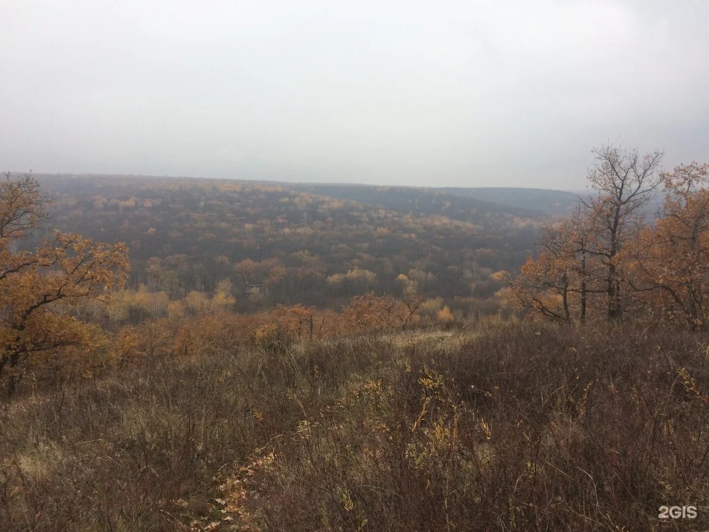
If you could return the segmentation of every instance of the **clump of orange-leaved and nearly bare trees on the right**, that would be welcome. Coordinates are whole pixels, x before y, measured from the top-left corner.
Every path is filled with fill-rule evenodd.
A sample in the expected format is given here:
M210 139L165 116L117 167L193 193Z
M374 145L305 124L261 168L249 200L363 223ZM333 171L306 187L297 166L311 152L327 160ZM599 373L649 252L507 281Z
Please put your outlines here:
M604 145L592 192L542 232L503 299L564 323L709 323L709 166L661 171L663 154ZM659 207L652 206L662 196Z

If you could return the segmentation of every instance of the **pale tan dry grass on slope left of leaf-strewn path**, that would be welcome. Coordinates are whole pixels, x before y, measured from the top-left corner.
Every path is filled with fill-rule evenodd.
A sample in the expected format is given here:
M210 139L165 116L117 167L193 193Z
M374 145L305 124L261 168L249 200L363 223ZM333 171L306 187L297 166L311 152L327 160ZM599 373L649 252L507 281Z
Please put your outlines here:
M295 431L350 375L391 360L387 345L158 356L18 398L0 409L0 528L174 531L221 519L223 473Z

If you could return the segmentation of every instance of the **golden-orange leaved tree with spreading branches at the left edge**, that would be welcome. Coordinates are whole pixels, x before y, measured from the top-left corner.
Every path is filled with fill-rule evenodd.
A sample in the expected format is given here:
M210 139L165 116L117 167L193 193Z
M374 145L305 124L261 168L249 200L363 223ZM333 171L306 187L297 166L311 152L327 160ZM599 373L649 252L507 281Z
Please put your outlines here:
M26 362L96 343L100 330L70 314L86 298L106 299L130 269L125 243L58 231L35 250L22 241L41 227L48 198L29 174L0 182L0 377L13 392Z

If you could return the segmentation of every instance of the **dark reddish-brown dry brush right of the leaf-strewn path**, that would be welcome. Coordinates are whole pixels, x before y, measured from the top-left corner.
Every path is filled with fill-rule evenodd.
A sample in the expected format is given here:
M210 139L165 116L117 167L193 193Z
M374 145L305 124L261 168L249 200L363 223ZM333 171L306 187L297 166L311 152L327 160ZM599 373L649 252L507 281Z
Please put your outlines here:
M683 333L481 328L410 345L245 480L264 530L653 530L709 522L709 364ZM703 507L703 508L702 508ZM697 528L700 529L700 528Z

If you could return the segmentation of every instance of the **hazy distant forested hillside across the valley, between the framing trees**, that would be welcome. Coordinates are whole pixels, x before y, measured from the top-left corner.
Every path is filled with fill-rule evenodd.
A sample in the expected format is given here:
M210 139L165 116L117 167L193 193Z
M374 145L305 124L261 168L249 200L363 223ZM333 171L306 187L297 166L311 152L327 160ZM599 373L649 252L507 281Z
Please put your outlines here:
M129 288L173 298L226 280L245 310L337 309L408 282L464 314L494 310L495 273L518 270L545 219L428 189L37 177L54 199L52 226L128 243Z

